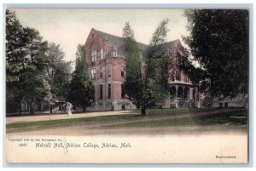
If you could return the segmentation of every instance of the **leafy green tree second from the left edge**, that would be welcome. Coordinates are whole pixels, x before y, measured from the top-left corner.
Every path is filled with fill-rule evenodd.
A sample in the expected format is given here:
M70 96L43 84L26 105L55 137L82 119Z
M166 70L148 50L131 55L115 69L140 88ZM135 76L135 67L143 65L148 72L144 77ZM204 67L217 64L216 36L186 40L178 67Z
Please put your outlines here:
M37 97L44 97L44 71L48 64L47 42L42 42L42 37L37 30L26 28L26 37L29 40L26 55L26 69L22 76L26 91L25 99L31 102L31 113Z

